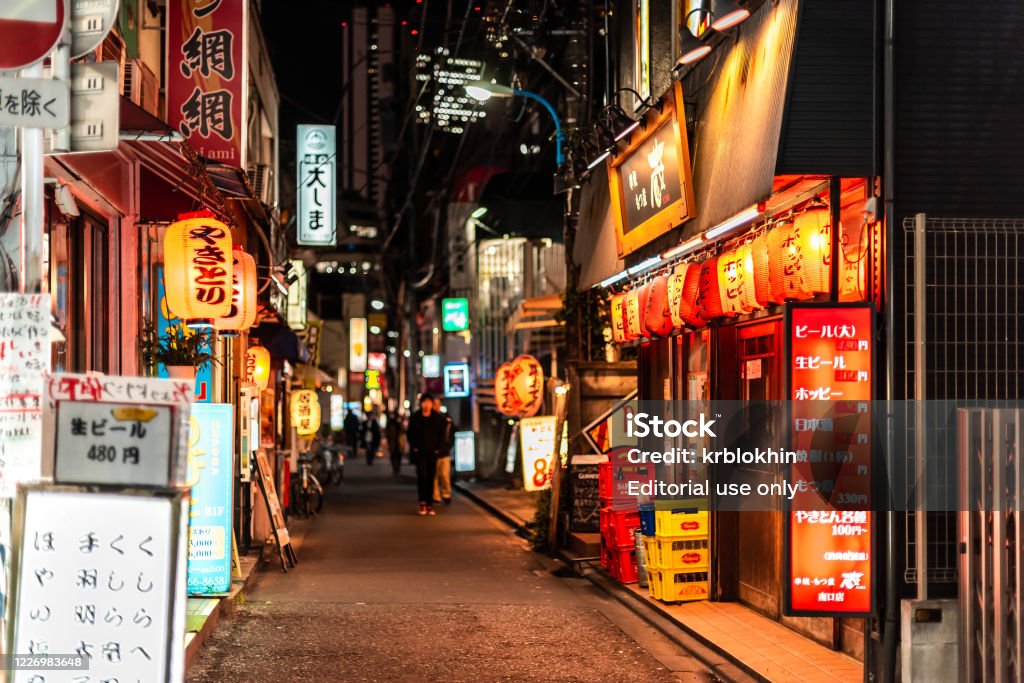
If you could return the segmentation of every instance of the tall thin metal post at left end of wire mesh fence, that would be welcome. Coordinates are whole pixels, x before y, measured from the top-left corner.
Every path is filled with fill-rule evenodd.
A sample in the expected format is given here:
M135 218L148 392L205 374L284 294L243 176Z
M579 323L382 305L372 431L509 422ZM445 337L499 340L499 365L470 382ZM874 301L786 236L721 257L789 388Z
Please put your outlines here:
M918 599L928 599L928 479L926 464L928 451L927 429L925 425L925 398L927 384L925 373L925 342L928 330L926 265L927 256L925 227L928 221L925 214L913 217L913 445L915 501L913 513L914 526L914 558L918 567Z

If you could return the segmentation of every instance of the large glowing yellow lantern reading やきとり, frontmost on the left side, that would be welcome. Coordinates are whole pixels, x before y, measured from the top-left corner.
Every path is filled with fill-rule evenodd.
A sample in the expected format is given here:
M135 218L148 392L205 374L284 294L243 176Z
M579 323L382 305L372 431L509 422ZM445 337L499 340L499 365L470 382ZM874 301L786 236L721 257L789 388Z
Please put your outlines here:
M171 223L164 234L167 307L195 328L231 310L231 232L209 216Z

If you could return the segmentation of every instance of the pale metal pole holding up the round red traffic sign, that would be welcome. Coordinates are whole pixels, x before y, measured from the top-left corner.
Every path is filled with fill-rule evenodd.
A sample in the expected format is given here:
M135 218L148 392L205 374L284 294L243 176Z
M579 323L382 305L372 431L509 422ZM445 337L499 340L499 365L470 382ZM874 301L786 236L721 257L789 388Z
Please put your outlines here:
M22 70L41 78L40 65ZM22 253L18 289L38 292L43 278L43 129L22 129Z

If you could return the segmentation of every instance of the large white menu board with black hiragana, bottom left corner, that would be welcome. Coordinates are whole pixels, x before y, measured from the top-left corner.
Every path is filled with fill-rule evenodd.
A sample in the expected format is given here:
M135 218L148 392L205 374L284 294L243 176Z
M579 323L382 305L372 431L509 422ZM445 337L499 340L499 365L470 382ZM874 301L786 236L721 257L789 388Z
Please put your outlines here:
M14 683L182 679L183 512L176 492L23 492L8 651L78 655L88 671L14 671Z

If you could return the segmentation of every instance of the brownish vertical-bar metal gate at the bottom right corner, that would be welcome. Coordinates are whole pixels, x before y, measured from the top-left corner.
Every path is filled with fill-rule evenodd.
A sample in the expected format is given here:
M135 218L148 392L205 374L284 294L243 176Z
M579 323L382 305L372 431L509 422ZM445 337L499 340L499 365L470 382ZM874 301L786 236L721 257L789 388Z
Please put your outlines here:
M957 411L961 681L1024 680L1021 409Z

